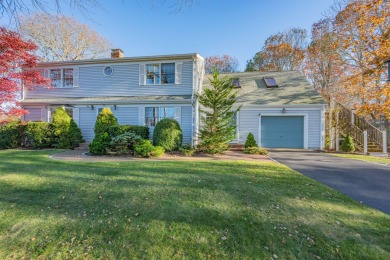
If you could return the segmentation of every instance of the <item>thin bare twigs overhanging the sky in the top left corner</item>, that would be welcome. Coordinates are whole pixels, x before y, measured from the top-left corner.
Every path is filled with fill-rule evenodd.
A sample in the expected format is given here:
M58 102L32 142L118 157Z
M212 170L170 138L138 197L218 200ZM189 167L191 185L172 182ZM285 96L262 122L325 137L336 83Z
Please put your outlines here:
M97 0L0 0L0 17L8 17L10 23L19 24L21 15L60 14L65 7L87 15L92 8L99 7L99 3Z

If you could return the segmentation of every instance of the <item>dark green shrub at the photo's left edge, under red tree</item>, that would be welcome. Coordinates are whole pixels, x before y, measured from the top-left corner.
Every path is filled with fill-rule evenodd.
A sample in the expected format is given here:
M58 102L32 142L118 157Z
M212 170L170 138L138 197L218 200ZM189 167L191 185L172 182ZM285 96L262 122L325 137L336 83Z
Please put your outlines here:
M22 145L25 123L11 122L0 127L0 149L18 148Z

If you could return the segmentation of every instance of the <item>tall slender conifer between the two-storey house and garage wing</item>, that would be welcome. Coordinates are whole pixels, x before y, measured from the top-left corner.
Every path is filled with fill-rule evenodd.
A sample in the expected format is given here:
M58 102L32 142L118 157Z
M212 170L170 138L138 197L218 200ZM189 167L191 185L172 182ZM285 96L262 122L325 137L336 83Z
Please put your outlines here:
M202 105L199 149L215 154L226 151L229 148L227 143L234 140L234 117L240 107L233 109L237 93L230 78L219 78L219 72L214 71L210 83L211 87L204 89L203 94L197 94Z

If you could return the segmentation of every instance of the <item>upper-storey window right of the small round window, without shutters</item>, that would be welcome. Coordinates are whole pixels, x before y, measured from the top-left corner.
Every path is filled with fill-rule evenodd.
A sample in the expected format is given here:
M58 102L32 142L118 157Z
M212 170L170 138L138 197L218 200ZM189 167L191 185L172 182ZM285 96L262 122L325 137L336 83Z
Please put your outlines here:
M146 85L158 84L175 84L175 63L146 65Z

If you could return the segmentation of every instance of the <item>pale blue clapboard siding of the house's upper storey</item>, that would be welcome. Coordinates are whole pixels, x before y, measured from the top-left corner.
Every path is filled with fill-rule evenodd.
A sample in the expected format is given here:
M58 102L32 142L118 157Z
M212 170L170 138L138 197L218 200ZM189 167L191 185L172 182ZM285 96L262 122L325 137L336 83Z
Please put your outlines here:
M55 97L109 97L109 96L159 96L191 95L193 82L193 62L184 61L181 84L139 85L139 63L110 65L112 76L103 74L106 65L83 65L79 67L79 87L76 88L37 88L26 91L25 98Z

